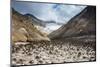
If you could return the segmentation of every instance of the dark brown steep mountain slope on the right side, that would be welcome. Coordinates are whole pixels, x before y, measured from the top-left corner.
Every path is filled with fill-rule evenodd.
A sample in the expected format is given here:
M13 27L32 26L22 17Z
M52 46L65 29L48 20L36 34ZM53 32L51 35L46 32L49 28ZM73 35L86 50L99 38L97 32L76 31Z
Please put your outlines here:
M96 7L88 6L67 24L50 33L51 39L96 34Z

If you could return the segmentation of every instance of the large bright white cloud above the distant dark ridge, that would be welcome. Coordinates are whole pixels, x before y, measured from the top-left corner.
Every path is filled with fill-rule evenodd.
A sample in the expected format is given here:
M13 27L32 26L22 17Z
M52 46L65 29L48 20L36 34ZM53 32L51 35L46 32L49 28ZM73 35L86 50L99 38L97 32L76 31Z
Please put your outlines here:
M65 23L82 11L85 6L45 4L40 7L39 18Z

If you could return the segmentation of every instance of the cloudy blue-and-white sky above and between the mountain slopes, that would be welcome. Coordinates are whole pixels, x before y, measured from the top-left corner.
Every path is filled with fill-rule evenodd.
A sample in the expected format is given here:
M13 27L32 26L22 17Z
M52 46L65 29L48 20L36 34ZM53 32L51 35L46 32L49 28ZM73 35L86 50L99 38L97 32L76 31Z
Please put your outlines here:
M73 16L80 13L86 6L67 5L55 3L35 3L35 2L12 2L11 5L21 14L30 13L44 21L55 21L56 23L66 24ZM51 30L58 29L61 25L48 24Z

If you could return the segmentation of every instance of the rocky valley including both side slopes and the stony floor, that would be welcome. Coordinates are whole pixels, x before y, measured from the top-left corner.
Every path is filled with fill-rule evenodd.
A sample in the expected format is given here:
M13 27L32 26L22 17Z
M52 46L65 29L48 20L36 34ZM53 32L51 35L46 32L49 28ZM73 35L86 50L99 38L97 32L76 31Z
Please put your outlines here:
M45 25L30 14L13 10L13 65L96 61L96 7L86 7L50 33L43 30Z

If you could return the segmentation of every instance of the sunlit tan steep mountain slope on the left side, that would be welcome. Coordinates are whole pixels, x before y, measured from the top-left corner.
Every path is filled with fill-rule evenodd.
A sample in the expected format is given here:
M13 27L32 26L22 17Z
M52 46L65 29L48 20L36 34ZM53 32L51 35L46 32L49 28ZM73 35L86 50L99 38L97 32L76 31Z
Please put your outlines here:
M36 19L36 18L34 18ZM35 23L38 23L37 25ZM12 9L12 41L49 40L46 32L40 31L39 22Z

